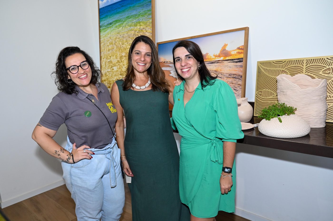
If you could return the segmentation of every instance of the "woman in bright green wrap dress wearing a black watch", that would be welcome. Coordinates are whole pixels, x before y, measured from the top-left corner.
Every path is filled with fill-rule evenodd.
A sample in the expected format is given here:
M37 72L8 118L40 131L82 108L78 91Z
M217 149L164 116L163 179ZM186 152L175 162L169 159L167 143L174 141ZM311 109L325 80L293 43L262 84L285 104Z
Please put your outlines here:
M196 43L179 41L172 53L184 80L173 91L171 118L182 136L180 199L191 221L213 221L219 210L235 210L235 142L244 136L237 103L230 86L210 75Z

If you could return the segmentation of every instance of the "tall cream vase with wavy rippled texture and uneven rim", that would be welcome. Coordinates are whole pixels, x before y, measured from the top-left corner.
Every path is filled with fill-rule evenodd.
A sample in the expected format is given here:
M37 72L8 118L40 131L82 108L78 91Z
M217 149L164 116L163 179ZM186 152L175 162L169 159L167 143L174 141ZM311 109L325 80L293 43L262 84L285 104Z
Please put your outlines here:
M297 108L295 114L307 121L310 127L325 127L327 112L327 81L312 79L305 74L281 74L277 79L279 103Z

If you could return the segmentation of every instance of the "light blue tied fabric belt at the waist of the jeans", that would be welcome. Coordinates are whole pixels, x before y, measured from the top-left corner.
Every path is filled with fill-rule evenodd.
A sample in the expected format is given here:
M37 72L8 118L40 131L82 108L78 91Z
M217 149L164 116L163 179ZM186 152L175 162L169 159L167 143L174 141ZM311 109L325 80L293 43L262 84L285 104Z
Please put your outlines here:
M114 154L117 154L117 150L115 148L118 148L116 145L117 142L115 138L113 138L112 143L106 145L102 149L95 149L95 148L90 148L87 150L93 151L95 154L104 154L107 159L110 160L110 186L115 187L117 185L117 177L116 177L116 170L115 167L117 166L117 161L114 158ZM69 141L69 137L67 136L67 145L66 145L66 150L69 152L72 152L73 150L73 144Z

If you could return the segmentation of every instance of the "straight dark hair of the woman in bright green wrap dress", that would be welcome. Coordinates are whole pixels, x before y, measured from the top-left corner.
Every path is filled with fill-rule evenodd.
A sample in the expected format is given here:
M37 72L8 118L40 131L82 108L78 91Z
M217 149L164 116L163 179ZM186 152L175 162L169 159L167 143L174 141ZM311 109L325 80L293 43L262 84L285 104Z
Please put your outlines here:
M203 55L202 55L202 52L200 50L199 45L197 45L193 41L181 40L181 41L178 41L176 43L176 45L174 45L174 47L172 48L172 57L173 57L174 69L176 69L175 60L174 60L174 50L178 47L184 47L195 58L195 60L198 62L198 65L200 65L200 69L198 69L198 72L199 72L199 77L200 77L201 88L203 89L207 85L213 85L217 76L212 76L210 74L210 72L207 69L207 67L205 65L205 62L203 60ZM176 72L177 72L177 69L176 69ZM184 80L178 74L178 72L177 72L177 76L181 80Z

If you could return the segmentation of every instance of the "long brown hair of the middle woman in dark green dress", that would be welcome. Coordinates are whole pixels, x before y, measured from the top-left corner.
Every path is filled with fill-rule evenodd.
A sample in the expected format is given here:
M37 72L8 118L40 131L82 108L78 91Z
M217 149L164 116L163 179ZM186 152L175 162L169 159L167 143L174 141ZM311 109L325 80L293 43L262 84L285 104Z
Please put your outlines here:
M135 81L135 73L132 65L132 52L134 50L135 45L139 42L148 44L152 50L152 64L147 70L148 76L150 77L150 80L152 82L152 90L153 91L161 90L165 93L169 93L170 85L167 83L164 71L162 70L159 64L159 58L157 55L157 49L155 43L152 41L152 39L144 35L136 37L131 44L130 50L128 51L128 66L126 69L126 76L124 78L123 90L124 91L129 90Z

